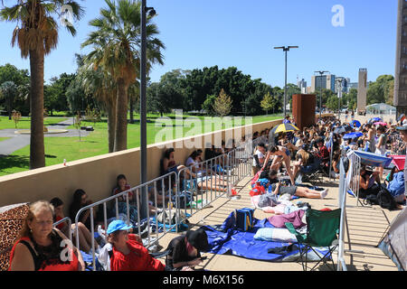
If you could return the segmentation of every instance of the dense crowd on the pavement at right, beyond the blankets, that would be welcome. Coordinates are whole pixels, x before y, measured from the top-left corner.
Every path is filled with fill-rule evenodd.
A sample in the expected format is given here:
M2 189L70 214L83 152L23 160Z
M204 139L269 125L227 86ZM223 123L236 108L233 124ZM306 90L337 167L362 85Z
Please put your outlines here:
M291 123L289 116L285 123ZM294 124L295 125L295 124ZM399 124L401 125L401 124ZM289 193L305 198L324 198L326 191L308 191L298 185L315 173L333 179L339 178L339 163L341 156L349 150L387 156L393 148L393 135L397 135L396 126L383 122L366 121L364 124L341 123L336 117L324 117L317 124L306 127L302 131L294 130L279 135L271 134L270 130L263 130L253 134L253 140L260 139L257 144L252 163L253 180L260 180L263 189L268 190L272 180L271 175L278 173L278 188L274 185L269 191ZM353 134L351 134L353 133ZM268 135L269 134L269 135ZM349 138L350 137L350 138ZM349 167L349 160L344 158L345 170ZM396 202L397 208L405 205L403 173L397 167L387 176L383 175L384 168L362 166L359 180L359 196L364 198L369 194L377 194L381 182L385 177L385 184ZM305 177L305 178L304 178ZM269 182L268 182L269 181ZM254 187L254 182L252 182ZM309 188L307 190L310 190Z

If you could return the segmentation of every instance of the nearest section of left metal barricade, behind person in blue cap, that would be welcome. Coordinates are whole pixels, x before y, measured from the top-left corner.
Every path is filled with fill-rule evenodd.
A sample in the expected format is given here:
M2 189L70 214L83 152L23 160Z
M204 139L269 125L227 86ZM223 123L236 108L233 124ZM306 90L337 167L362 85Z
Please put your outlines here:
M177 188L177 183L178 183L178 176L176 172L170 172L164 176L161 176L159 178L156 178L152 181L143 183L138 185L135 188L129 189L128 191L123 191L120 192L114 196L111 196L107 199L104 200L99 200L96 201L89 206L81 208L78 213L76 214L75 217L75 224L76 224L76 247L80 247L80 238L79 238L79 228L78 228L78 223L80 222L80 215L84 213L87 210L90 210L90 234L91 236L95 236L95 210L96 208L99 208L100 206L102 207L102 213L103 213L103 220L102 223L104 225L105 230L108 228L108 219L126 219L126 222L128 225L131 225L134 228L137 228L137 234L140 238L147 240L146 244L143 241L143 245L145 247L150 247L154 244L156 244L156 241L160 238L163 238L166 233L170 232L173 228L175 228L176 223L178 223L178 211L173 209L172 206L168 206L168 203L170 200L175 200L175 203L177 202L177 198L175 197L175 189ZM145 196L145 202L147 204L147 218L141 219L140 216L140 208L141 208L141 198L142 196L142 191L143 189L146 189L147 194ZM132 199L130 201L130 198ZM161 201L158 201L160 199ZM111 207L109 206L109 202L113 201L114 206ZM160 204L159 204L160 203ZM109 208L108 208L109 207ZM109 213L108 213L109 210ZM158 222L159 215L164 212L164 214L161 215L161 218L164 220L164 223L160 224ZM176 222L175 224L173 223L173 218L174 213L176 214L175 219ZM124 216L123 216L124 215ZM135 216L136 215L136 216ZM151 219L151 215L154 215ZM109 218L108 218L109 216ZM166 217L169 216L168 224L166 224ZM123 218L124 217L124 218ZM99 220L100 221L100 220ZM145 223L142 223L142 221L147 223L147 226L145 226ZM152 228L155 226L156 228ZM145 233L142 232L142 230L146 230L147 237L143 238L142 235L145 235ZM152 238L152 231L155 230L155 235L156 239L154 241ZM176 229L175 229L176 230ZM107 236L105 235L105 238ZM96 259L95 259L95 253L96 253L96 247L95 247L95 238L91 239L91 254L92 254L92 264L93 264L93 270L96 270Z

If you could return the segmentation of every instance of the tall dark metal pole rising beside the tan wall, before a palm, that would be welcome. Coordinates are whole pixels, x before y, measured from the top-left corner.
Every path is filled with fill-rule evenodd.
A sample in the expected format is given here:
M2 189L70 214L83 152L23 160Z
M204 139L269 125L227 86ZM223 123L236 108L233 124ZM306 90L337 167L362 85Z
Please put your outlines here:
M147 0L141 1L141 64L140 64L140 183L147 182ZM141 188L141 216L147 216L146 187Z

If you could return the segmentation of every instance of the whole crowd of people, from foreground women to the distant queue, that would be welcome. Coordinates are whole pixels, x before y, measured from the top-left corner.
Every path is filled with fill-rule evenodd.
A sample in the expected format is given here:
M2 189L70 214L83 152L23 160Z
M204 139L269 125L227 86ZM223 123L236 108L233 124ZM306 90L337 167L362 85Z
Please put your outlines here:
M284 120L284 123L291 123L289 117ZM345 126L348 126L348 129L340 130ZM344 135L352 131L360 132L362 135L354 139L345 139ZM263 191L261 195L269 194L268 198L258 199L257 205L264 202L265 206L270 206L273 201L277 204L278 196L283 195L289 196L287 200L291 200L294 196L309 199L326 198L327 189L302 184L308 175L318 172L336 179L339 176L341 156L346 150L360 149L385 155L388 147L392 145L389 135L395 133L393 126L376 127L365 123L360 127L352 127L349 124L342 124L336 117L324 117L316 125L304 128L302 131L274 135L270 128L255 132L251 141L254 142L258 138L264 141L257 142L254 148L252 186L254 190L260 185ZM243 137L241 143L245 141ZM160 162L160 175L168 174L169 177L166 178L164 187L151 186L147 189L149 213L153 215L160 210L165 210L171 201L171 196L166 191L177 189L184 191L187 189L187 183L191 181L201 191L231 190L222 173L227 169L223 160L224 156L238 145L233 140L232 147L227 147L222 142L220 148L212 146L212 148L206 148L205 152L200 149L194 150L186 158L185 164L175 161L174 148L166 149ZM172 172L180 177L181 188L176 188ZM373 190L377 190L374 189L374 182L380 183L383 180L383 169L368 173L366 167L362 167L360 177L360 190L364 195L368 195ZM400 188L404 185L402 177L403 174L394 168L384 182L393 191L398 193L402 191L397 201L405 203L404 189ZM208 180L213 182L205 182ZM108 208L109 226L105 230L106 238L95 238L91 234L92 230L98 231L98 228L104 224L103 207L95 207L93 216L90 216L90 210L83 210L76 225L78 212L93 203L87 193L81 189L74 191L68 210L68 217L73 222L71 228L63 222L55 228L52 226L53 223L65 218L64 203L58 197L50 201L37 201L30 204L29 213L24 220L24 228L11 251L9 270L85 270L86 264L81 252L90 253L92 244L98 248L100 254L102 254L102 248L110 248L106 253L109 255L109 264L106 267L112 271L189 271L199 266L203 262L201 252L208 248L207 236L202 229L188 230L185 234L174 238L166 248L165 264L148 252L142 239L134 230L139 218L137 208L141 200L140 195L131 191L131 188L126 176L119 174L111 195L121 195L118 202L113 202ZM251 192L251 197L255 195L257 193ZM159 209L160 207L162 209ZM282 212L287 213L288 210L290 208ZM91 228L91 224L94 228ZM70 231L71 236L69 236ZM62 241L70 237L79 238L80 247L76 248L69 242L61 246ZM71 257L61 258L64 250Z

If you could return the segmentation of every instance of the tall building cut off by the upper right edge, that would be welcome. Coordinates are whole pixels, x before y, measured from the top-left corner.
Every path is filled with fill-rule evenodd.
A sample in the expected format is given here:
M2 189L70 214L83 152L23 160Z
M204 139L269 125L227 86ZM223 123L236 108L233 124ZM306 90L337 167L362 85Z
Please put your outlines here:
M407 2L399 0L394 77L394 107L397 114L407 113Z

